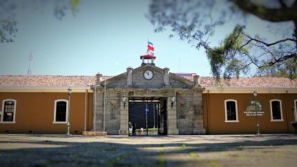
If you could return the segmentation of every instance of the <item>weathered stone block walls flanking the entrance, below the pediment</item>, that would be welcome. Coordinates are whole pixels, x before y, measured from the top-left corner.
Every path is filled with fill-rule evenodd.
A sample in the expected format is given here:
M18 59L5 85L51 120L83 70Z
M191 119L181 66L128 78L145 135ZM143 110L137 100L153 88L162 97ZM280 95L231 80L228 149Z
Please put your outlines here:
M105 129L108 135L125 135L126 133L119 134L120 130L126 130L128 127L128 99L126 106L122 102L122 94L125 92L125 89L106 89ZM169 135L205 134L203 128L202 90L189 89L178 91L173 104L171 103L171 98L174 97L175 88L170 88L169 90L171 91L169 94L173 94L167 97L169 100L167 103L166 124ZM136 92L142 91L144 90L136 90ZM160 95L162 95L160 91L151 92L153 97ZM168 96L168 94L163 93L163 96ZM128 94L126 97L128 97ZM97 89L96 110L96 131L103 131L104 88Z

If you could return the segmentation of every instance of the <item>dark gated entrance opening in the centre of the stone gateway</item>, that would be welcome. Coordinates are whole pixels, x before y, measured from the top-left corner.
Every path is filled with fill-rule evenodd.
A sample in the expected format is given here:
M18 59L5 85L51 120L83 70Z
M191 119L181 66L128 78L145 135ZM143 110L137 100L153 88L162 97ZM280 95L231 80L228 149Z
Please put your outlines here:
M128 107L129 135L167 134L165 97L129 97Z

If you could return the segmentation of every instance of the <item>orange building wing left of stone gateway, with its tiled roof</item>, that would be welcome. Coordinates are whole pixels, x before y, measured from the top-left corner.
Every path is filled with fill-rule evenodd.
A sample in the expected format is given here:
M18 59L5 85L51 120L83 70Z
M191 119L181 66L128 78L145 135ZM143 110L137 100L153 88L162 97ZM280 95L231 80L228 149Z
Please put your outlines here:
M83 130L90 130L93 92L88 85L94 83L94 79L88 76L0 76L0 132L64 134L68 87L73 88L70 132L82 134Z

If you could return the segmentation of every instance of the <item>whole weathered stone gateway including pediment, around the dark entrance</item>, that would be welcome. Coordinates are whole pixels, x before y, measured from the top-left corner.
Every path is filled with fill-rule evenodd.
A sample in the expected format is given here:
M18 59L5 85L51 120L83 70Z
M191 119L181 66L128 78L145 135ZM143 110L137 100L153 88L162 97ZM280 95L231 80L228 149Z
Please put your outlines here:
M145 70L153 71L151 80L144 79ZM104 82L101 74L96 76L96 83L100 85L94 93L95 130L98 132L103 131ZM166 121L162 124L166 125L167 135L205 134L202 91L198 81L173 75L169 68L143 66L133 70L128 67L126 73L106 81L105 130L108 135L128 135L128 97L162 97L166 101ZM123 97L127 98L126 103Z

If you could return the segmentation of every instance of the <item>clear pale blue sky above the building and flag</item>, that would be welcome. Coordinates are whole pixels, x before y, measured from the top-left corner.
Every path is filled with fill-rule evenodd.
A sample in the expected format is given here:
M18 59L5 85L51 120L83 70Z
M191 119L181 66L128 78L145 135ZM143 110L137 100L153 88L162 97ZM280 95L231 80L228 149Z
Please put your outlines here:
M176 37L169 39L170 31L153 32L145 17L149 1L124 2L82 1L75 17L68 12L61 21L52 14L52 6L17 10L16 41L0 44L0 75L26 75L30 52L33 75L118 75L128 66L140 66L148 39L155 46L156 66L211 75L204 50L191 48ZM218 45L236 23L217 28L211 46ZM274 25L249 17L247 32L280 39L285 29L269 32L267 26Z

